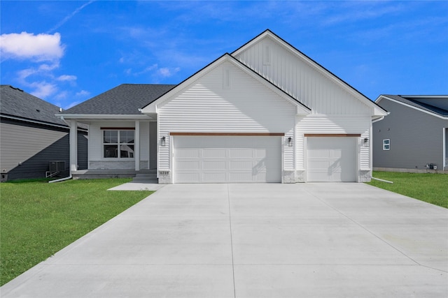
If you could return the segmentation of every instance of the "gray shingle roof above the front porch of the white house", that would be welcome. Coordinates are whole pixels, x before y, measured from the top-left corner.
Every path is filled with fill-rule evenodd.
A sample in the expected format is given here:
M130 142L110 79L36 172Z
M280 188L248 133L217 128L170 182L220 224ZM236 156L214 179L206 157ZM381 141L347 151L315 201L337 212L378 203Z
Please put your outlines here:
M176 85L120 84L62 114L141 114L139 109L162 96Z

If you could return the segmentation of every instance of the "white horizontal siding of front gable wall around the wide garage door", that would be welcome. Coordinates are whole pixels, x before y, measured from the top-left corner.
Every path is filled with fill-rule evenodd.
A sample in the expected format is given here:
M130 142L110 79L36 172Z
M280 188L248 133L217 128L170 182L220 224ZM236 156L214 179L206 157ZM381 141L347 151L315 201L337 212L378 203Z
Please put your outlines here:
M225 79L225 80L224 80ZM169 170L171 132L285 133L294 137L296 107L229 62L159 106L158 170ZM279 144L280 146L281 144ZM284 168L294 168L293 147L284 147ZM281 163L281 161L279 161Z

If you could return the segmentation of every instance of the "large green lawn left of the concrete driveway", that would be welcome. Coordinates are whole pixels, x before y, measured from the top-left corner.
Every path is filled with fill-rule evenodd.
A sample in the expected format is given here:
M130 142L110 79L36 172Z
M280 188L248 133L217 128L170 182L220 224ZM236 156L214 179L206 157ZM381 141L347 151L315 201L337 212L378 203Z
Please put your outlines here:
M107 191L130 179L47 181L0 184L0 285L152 193Z

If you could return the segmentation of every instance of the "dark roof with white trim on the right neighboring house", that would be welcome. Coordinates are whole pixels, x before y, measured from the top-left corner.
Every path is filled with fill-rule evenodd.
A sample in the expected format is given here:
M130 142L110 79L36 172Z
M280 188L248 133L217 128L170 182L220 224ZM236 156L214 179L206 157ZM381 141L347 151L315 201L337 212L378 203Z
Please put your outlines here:
M400 96L381 94L375 103L381 105L381 100L391 100L414 110L431 114L435 117L448 119L448 96Z

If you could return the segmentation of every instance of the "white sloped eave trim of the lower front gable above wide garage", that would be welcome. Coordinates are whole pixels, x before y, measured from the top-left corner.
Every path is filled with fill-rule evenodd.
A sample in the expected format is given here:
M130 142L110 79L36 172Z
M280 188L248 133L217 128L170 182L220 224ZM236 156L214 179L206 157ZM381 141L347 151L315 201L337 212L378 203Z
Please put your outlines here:
M202 68L202 70L199 70L194 75L188 77L188 79L184 80L183 82L181 82L181 84L177 85L173 89L167 91L167 93L160 96L160 98L157 98L152 103L146 105L146 107L144 107L142 109L142 112L147 113L147 114L157 113L158 107L160 105L162 105L166 100L171 100L177 94L181 94L181 92L183 92L183 90L187 89L189 86L194 84L197 80L199 80L201 77L203 77L204 75L207 75L207 73L209 73L211 70L217 68L218 66L220 66L221 64L223 64L225 62L230 62L233 66L244 71L244 73L246 73L246 75L249 75L249 76L253 77L255 80L258 80L258 82L261 82L265 87L267 87L268 89L270 89L271 91L273 91L274 93L279 95L284 100L287 100L288 102L293 103L293 105L295 105L295 107L296 107L297 114L309 114L310 109L308 107L306 107L305 105L300 103L297 99L293 98L292 96L286 94L284 91L282 91L278 87L274 86L269 81L265 80L265 78L261 77L260 75L258 75L258 73L255 73L253 70L251 70L244 64L241 64L241 62L237 61L237 59L230 56L230 54L228 54L228 53L224 54L220 58L211 62L211 64L205 66L204 68Z

